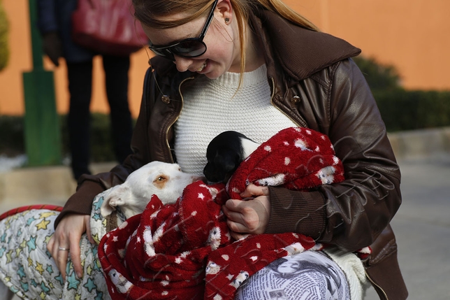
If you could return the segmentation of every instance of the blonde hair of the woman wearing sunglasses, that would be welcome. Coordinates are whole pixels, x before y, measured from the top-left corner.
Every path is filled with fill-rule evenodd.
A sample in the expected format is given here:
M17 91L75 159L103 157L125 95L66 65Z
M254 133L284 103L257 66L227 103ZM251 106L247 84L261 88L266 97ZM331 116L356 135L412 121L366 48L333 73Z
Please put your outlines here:
M180 26L195 20L201 15L205 15L210 10L215 0L133 0L135 17L148 27L155 29L166 29ZM240 42L240 73L245 71L245 20L249 20L252 10L261 8L277 13L284 19L297 24L300 27L319 31L319 29L305 17L296 13L295 10L286 6L281 0L230 0L231 6L238 22L239 42ZM187 8L189 7L189 8ZM189 17L181 20L165 20L165 17L177 13L191 11Z

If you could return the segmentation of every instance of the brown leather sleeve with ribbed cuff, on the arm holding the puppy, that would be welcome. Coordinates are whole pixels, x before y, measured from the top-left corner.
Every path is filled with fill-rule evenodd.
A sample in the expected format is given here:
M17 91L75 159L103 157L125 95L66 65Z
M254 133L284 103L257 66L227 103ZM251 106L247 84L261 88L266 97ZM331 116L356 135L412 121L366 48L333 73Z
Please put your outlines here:
M361 71L351 59L330 70L318 129L331 139L345 180L309 192L271 187L266 232L296 231L355 251L371 245L398 210L400 170Z

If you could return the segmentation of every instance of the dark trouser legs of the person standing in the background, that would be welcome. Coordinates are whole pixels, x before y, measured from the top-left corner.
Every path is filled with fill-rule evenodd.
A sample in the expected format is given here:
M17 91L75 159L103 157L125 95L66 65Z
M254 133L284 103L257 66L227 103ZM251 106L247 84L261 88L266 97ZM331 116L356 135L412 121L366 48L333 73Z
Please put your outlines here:
M111 134L116 159L122 163L131 153L132 123L128 103L129 57L103 55L106 95L110 106ZM67 63L70 107L68 138L75 180L89 174L90 110L92 96L92 60Z

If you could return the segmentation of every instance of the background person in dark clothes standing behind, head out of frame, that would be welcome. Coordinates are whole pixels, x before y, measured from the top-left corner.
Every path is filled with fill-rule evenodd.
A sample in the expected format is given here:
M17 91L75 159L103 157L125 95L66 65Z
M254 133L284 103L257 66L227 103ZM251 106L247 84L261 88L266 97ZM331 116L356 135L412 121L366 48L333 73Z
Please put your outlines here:
M76 0L38 0L38 27L43 36L44 52L55 66L59 66L59 57L66 60L70 93L68 138L72 173L75 180L78 180L82 174L90 174L89 106L92 97L92 59L99 53L73 42L71 15L76 8ZM113 148L117 161L122 163L131 153L133 131L128 103L130 57L101 55L110 106Z

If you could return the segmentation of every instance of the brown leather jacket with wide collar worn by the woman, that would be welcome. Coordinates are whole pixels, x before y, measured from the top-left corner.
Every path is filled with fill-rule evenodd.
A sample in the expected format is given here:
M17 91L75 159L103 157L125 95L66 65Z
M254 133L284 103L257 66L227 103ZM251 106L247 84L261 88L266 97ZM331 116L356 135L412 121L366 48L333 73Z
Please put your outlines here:
M406 299L389 226L401 203L400 170L375 100L350 59L361 51L268 11L256 12L250 24L263 45L271 103L299 127L328 135L346 178L310 192L270 188L266 232L296 231L348 251L372 245L372 255L365 260L372 285L382 299ZM161 57L154 57L152 65L145 76L133 155L110 173L82 177L57 222L66 213L90 213L96 194L122 183L147 162L176 161L173 124L182 110L183 89L198 75L179 73Z

